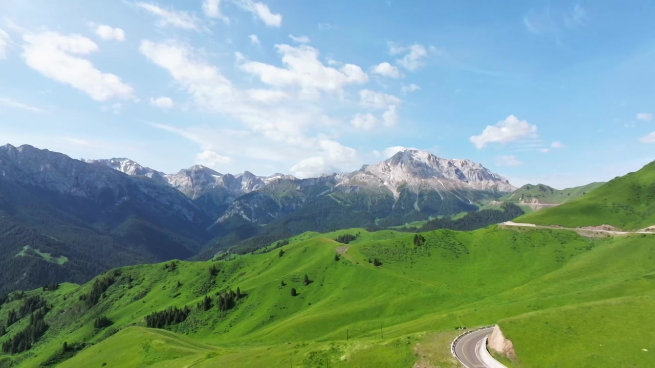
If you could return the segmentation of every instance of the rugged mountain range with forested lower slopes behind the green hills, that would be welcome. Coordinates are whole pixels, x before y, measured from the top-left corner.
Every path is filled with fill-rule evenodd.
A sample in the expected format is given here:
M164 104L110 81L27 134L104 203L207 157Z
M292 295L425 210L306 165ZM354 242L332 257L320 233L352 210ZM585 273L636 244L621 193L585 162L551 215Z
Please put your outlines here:
M417 150L354 172L299 179L201 165L165 174L128 158L77 160L5 145L0 264L7 272L0 292L81 282L122 265L209 259L233 246L252 251L307 230L448 217L515 189L470 160Z

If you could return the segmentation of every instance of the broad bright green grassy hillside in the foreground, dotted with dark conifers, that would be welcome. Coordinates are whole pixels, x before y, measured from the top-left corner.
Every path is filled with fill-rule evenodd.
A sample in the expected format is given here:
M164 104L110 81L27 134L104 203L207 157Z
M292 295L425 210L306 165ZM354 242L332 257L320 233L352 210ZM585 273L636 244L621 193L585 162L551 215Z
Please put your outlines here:
M347 245L333 240L343 234L359 236ZM454 367L455 327L491 323L506 329L521 366L543 366L544 354L561 367L591 357L596 366L655 364L652 354L638 354L655 351L652 331L631 322L650 318L655 297L651 235L585 238L493 226L422 236L416 246L413 233L394 230L308 232L291 238L281 256L272 249L230 261L122 267L100 276L113 284L93 306L81 300L91 283L31 291L52 304L49 327L31 350L0 356L0 367L411 367L419 359ZM221 312L217 293L237 287L246 296ZM196 308L206 296L211 308ZM25 300L2 304L0 323ZM146 327L146 316L170 306L191 312L166 329ZM113 324L94 328L100 316ZM601 323L583 328L593 318ZM25 316L10 325L0 344L28 323ZM600 339L593 334L616 348L557 349ZM632 336L622 342L625 335ZM544 340L554 348L544 352ZM629 344L637 341L645 346ZM75 354L79 343L88 345Z

